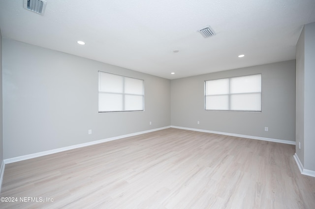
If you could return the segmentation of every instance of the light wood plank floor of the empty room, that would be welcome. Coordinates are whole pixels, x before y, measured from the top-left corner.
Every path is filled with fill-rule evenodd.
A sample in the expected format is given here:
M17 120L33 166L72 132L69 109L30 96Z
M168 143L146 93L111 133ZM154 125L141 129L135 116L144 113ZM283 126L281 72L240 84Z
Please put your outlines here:
M294 153L165 129L7 164L0 196L43 202L0 208L315 209L315 178L300 174Z

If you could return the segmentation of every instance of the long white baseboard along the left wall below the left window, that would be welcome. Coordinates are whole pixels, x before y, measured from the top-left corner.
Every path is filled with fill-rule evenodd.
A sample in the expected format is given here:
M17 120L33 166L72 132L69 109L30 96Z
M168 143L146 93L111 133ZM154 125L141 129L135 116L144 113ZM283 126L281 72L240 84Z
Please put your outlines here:
M101 139L101 140L97 140L97 141L91 141L91 142L76 144L76 145L72 145L72 146L68 146L68 147L62 147L62 148L58 148L58 149L54 149L54 150L47 150L44 152L33 153L30 155L12 157L12 158L8 158L8 159L4 159L3 161L4 161L4 164L8 164L8 163L12 163L12 162L18 162L21 160L31 159L34 157L41 157L41 156L46 156L46 155L50 155L50 154L60 153L60 152L67 151L67 150L73 150L76 148L87 147L90 145L100 144L100 143L104 143L107 141L113 141L113 140L117 140L117 139L121 139L121 138L126 138L129 136L140 135L143 133L149 133L149 132L159 131L159 130L168 129L168 128L171 128L171 127L167 126L167 127L162 127L162 128L158 128L158 129L151 129L148 131L140 131L140 132L130 133L130 134L126 134L126 135L115 136L115 137Z

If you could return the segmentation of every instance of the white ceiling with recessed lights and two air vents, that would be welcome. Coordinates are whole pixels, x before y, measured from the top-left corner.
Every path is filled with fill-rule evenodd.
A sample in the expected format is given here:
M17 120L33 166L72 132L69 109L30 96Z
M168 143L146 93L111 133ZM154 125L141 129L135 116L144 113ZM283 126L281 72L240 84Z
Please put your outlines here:
M295 59L312 22L315 0L0 0L4 38L169 79Z

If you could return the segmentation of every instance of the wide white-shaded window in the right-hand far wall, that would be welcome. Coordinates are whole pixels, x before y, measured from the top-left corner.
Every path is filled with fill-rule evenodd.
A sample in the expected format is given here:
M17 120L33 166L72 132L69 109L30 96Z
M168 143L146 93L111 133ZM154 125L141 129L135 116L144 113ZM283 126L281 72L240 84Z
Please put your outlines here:
M261 111L261 74L205 81L205 110Z

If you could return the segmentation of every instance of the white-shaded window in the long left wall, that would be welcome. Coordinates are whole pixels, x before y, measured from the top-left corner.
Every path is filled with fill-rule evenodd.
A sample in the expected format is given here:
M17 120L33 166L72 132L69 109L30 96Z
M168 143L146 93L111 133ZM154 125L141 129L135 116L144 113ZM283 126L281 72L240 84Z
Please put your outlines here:
M98 71L98 112L144 110L144 80Z

